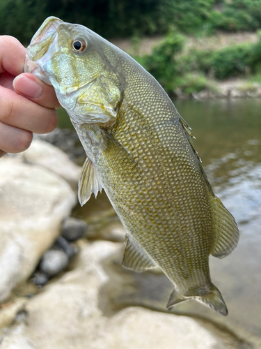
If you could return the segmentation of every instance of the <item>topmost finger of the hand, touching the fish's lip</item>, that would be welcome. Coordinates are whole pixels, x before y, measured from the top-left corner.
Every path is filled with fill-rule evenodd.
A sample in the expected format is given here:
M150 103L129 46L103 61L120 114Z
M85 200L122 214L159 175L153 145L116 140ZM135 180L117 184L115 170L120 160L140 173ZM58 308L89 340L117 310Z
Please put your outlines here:
M8 71L17 76L22 73L26 49L13 36L0 36L0 74Z

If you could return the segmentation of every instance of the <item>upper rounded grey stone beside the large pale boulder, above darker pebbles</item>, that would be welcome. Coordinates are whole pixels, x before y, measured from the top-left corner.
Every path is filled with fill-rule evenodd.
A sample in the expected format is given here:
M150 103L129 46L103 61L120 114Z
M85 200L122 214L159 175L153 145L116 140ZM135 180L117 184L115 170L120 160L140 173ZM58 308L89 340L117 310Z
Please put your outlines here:
M74 241L84 236L87 230L87 224L81 219L68 217L65 218L61 228L61 235L68 241Z

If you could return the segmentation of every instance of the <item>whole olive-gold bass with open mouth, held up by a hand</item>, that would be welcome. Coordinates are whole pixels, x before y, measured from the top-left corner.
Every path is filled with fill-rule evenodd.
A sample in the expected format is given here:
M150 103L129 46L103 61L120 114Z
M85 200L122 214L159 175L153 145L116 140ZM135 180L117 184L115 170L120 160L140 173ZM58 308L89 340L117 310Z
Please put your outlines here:
M52 84L86 151L84 205L102 188L126 230L122 265L160 267L173 283L167 308L187 299L228 310L209 255L237 246L235 218L216 197L191 128L132 57L80 24L48 17L26 49L24 71Z

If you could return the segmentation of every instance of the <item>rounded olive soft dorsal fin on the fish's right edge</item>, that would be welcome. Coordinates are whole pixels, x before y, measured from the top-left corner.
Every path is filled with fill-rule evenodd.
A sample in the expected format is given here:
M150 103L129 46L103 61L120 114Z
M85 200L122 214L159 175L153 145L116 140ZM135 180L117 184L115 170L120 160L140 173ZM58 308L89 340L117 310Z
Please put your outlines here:
M235 218L223 206L221 200L211 195L214 218L214 244L211 254L214 257L224 258L237 246L239 231Z

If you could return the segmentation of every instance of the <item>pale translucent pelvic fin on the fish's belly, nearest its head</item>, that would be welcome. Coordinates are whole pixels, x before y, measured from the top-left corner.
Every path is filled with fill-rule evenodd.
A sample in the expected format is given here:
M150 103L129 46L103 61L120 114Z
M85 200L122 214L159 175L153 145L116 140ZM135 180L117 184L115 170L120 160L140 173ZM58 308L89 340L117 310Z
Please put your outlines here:
M93 163L89 158L86 158L84 166L81 169L78 185L78 198L81 206L90 199L92 193L94 193L96 198L98 191L102 191L102 184L97 177L97 172Z

